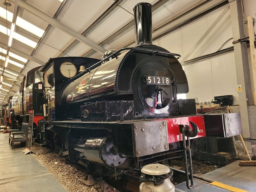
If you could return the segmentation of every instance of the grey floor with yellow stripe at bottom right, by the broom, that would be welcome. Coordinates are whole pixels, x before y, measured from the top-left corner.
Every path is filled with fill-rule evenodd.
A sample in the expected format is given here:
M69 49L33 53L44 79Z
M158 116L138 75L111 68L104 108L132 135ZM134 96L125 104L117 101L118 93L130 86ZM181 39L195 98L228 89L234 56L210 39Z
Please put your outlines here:
M191 190L186 187L186 182L176 185L175 190L176 192L255 192L256 166L239 166L239 162L235 161L201 176L213 183L194 179L194 187Z

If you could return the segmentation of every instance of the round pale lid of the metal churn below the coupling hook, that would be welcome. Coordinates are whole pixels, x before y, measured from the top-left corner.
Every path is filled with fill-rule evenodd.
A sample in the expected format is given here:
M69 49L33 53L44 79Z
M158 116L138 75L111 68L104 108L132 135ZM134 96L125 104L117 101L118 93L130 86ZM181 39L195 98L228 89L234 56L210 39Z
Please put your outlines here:
M147 175L164 175L170 171L168 166L162 164L148 164L141 169L141 172Z

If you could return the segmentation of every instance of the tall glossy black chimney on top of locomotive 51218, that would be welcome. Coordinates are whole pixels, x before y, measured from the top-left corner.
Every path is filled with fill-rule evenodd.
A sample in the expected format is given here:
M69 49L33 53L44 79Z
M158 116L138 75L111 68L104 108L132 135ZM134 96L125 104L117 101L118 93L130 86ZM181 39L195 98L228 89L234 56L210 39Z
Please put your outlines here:
M152 5L138 3L133 8L136 46L152 44Z

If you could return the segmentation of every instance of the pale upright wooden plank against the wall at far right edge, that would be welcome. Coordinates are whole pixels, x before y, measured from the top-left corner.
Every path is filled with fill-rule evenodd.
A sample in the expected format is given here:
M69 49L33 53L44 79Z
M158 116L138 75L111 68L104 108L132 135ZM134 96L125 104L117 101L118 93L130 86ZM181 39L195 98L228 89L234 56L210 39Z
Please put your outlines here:
M256 60L255 60L255 46L254 46L254 27L253 27L253 20L252 16L247 17L247 25L249 31L249 40L250 40L250 52L251 52L251 65L252 65L252 86L253 86L253 98L254 98L254 105L256 105Z

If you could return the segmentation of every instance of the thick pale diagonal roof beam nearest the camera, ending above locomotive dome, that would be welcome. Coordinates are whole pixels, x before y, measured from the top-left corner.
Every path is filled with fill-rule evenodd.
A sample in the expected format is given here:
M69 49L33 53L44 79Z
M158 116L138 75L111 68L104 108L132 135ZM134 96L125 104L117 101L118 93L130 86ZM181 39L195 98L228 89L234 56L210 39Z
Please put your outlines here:
M30 12L31 14L37 16L38 18L41 18L42 20L50 23L52 26L60 29L61 31L63 31L64 33L67 33L68 35L72 36L73 38L76 38L78 41L84 43L85 45L92 47L94 50L97 50L100 53L105 53L105 51L107 51L104 48L102 48L101 46L97 45L96 43L94 43L94 42L88 40L87 38L85 38L84 36L80 35L73 29L65 26L64 24L58 22L56 19L46 15L42 11L40 11L40 10L36 9L35 7L31 6L30 4L26 3L25 1L23 1L23 0L18 1L18 6L21 7L22 9L25 9L26 11Z

